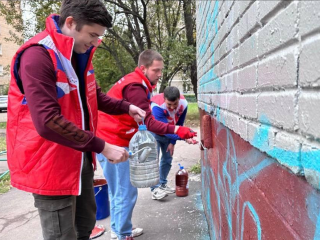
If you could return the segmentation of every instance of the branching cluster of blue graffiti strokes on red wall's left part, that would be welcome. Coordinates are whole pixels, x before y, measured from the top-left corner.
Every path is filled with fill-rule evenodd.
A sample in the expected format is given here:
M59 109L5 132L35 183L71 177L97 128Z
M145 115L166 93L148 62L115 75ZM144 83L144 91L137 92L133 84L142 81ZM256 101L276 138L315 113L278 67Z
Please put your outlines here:
M215 223L212 216L208 216L209 219L209 225L210 229L212 230L212 237L213 239L222 239L222 233L221 233L221 227L219 227L219 224L221 224L221 208L222 205L226 212L227 222L228 222L228 229L229 229L229 239L233 239L233 217L236 218L236 239L243 239L243 226L244 226L244 210L246 208L249 209L251 212L251 215L254 218L254 222L256 223L257 227L257 237L258 239L261 239L261 225L260 220L257 212L255 211L253 205L250 202L245 202L242 206L240 206L240 200L239 200L239 189L243 182L247 181L250 178L253 178L254 176L258 175L260 171L265 169L266 167L270 166L274 163L274 161L270 158L266 158L260 163L256 164L251 169L247 170L246 172L242 174L238 174L238 163L237 163L237 157L235 152L235 146L233 138L230 134L230 130L226 128L218 128L217 129L217 135L220 131L225 130L227 134L227 154L226 159L224 159L223 163L223 169L222 169L222 176L220 175L220 170L218 169L218 176L214 176L213 170L210 168L210 165L208 165L208 157L205 150L205 157L203 159L203 168L202 168L202 189L203 189L203 196L205 201L206 210L208 213L212 213L211 209L211 202L216 201L218 205L218 213L217 216L219 217L219 223ZM231 149L231 152L230 152ZM218 157L220 154L218 153ZM247 161L250 161L252 158L247 158ZM215 159L216 161L220 161L220 159ZM251 160L254 161L255 160ZM216 182L216 178L218 179L218 182ZM232 178L234 178L234 181L232 181ZM205 183L212 183L213 187L205 186ZM215 196L217 199L214 199L211 201L211 191L214 191ZM221 203L222 202L222 203ZM240 208L241 213L240 214ZM233 209L236 210L236 214L233 215ZM240 219L241 216L241 219ZM241 229L240 229L241 227Z

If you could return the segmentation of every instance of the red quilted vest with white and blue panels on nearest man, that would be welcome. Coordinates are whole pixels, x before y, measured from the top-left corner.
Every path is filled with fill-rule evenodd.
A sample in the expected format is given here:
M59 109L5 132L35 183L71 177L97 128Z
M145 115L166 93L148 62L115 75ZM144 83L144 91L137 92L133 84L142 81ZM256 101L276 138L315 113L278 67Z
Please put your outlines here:
M7 123L8 165L11 184L16 188L42 195L79 195L84 153L46 140L37 133L18 74L23 51L33 45L44 46L56 70L61 114L80 129L85 129L79 79L71 64L74 40L61 34L56 27L57 20L57 15L50 15L46 29L21 46L12 60ZM96 84L91 64L94 51L95 48L87 59L83 76L89 125L93 132L98 115L96 88L92 87Z

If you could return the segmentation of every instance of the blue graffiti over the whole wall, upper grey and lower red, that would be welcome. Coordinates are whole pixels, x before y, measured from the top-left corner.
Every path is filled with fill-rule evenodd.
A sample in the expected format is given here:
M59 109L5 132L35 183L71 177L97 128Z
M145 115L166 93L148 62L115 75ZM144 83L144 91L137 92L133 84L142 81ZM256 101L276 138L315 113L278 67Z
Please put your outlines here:
M200 3L201 9L201 17L206 17L204 21L201 19L200 22L204 23L202 31L200 30L199 34L199 47L198 47L198 59L200 66L199 73L201 73L201 78L199 79L199 99L202 98L202 93L213 93L219 92L221 89L221 82L218 76L215 74L214 69L214 61L215 61L215 46L214 46L214 37L217 37L218 34L218 21L217 16L219 12L219 2L215 1L212 13L209 13L210 7L202 4L209 4L209 1L204 1ZM205 9L207 10L206 13ZM206 15L205 15L206 14ZM254 41L254 39L252 39ZM252 42L254 43L254 42ZM209 45L210 44L210 45ZM208 51L210 50L210 51ZM204 61L208 62L208 53L210 53L210 60L211 65L213 67L211 69L207 69L209 64L202 65ZM205 74L202 74L205 73ZM202 108L209 113L215 112L216 119L225 124L225 118L222 114L220 114L220 107L219 106L212 106L206 103L202 103ZM262 117L264 118L264 117ZM260 119L260 122L268 122L267 119ZM261 222L258 213L256 212L254 206L250 202L245 202L243 205L240 206L239 203L239 188L241 184L245 181L248 181L250 178L259 174L260 171L265 169L266 167L270 166L271 164L276 163L275 160L271 158L266 158L263 161L256 163L253 162L251 169L247 170L245 173L238 175L238 167L237 167L237 156L235 155L234 151L234 141L232 136L229 132L229 129L224 128L227 132L227 149L228 152L226 154L226 159L222 159L224 161L222 172L218 169L218 176L214 176L212 169L209 167L207 152L205 151L204 159L203 159L203 167L202 169L202 190L203 190L203 202L206 207L207 219L209 222L209 227L212 230L212 237L213 239L221 239L221 227L219 224L221 223L222 219L222 205L225 208L225 212L227 214L227 225L229 228L229 239L232 239L232 232L234 231L232 226L233 220L233 206L235 206L236 211L236 239L243 239L243 228L244 228L244 212L245 209L248 209L257 228L257 238L261 239L262 229L261 229ZM221 131L222 128L220 127L218 131ZM261 151L266 152L271 157L278 160L279 163L282 165L290 168L295 173L300 175L305 175L308 181L311 181L311 184L316 188L320 189L320 151L313 150L313 151L288 151L281 148L270 147L268 144L270 135L270 124L263 124L257 130L254 135L254 138L250 140L252 146L260 149ZM229 152L230 148L229 145L232 147L232 152ZM218 159L215 161L220 161L218 154ZM250 156L252 161L255 161L254 157ZM221 175L222 174L222 175ZM216 182L217 179L217 182ZM233 179L233 180L232 180ZM205 183L212 183L213 186L205 186ZM218 206L218 212L214 213L217 214L219 222L215 222L213 216L211 215L211 203L213 202L211 199L211 191L214 192L217 199L213 201L216 202ZM314 240L320 239L320 213L319 213L319 206L316 201L319 201L319 196L317 197L309 197L306 199L306 206L308 206L308 211L310 211L309 218L315 225L315 233L314 233ZM313 209L312 211L310 209ZM241 211L240 211L241 209ZM240 214L241 213L241 214ZM241 216L241 217L240 217ZM217 218L215 218L217 219Z

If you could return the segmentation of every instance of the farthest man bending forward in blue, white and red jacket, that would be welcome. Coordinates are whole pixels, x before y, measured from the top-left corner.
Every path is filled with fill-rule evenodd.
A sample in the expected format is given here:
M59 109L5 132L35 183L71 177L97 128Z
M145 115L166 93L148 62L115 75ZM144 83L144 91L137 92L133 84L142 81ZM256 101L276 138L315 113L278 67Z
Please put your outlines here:
M157 94L151 98L152 115L156 120L171 125L183 126L184 120L187 115L188 102L184 98L177 87L166 87L164 92ZM158 153L161 149L160 160L160 183L151 187L152 199L159 200L167 195L159 194L175 193L175 189L171 188L167 182L172 163L172 156L174 153L174 146L177 140L181 138L176 134L154 134L158 142ZM196 144L194 139L186 139L189 144Z

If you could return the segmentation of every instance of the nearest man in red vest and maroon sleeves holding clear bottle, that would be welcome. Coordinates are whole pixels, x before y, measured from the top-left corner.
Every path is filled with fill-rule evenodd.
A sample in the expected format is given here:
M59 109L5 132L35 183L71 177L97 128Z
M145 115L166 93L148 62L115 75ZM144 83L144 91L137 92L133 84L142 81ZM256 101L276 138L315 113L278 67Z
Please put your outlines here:
M91 59L112 26L104 4L66 0L61 12L63 19L50 15L12 60L8 165L11 184L33 193L45 240L88 240L96 221L95 153L112 163L128 158L126 149L95 136L98 109L137 122L145 112L96 83Z

